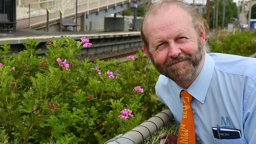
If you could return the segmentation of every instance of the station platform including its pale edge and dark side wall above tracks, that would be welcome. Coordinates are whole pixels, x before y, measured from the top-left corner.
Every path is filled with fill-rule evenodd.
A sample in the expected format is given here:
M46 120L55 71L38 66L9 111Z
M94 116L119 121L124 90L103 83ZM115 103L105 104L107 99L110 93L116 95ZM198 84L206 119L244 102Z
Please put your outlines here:
M89 31L62 31L62 32L45 32L30 29L16 31L0 30L0 45L3 42L11 45L11 53L19 53L24 50L24 43L27 39L41 41L37 48L41 48L39 55L45 55L48 49L45 43L53 37L58 40L61 36L69 36L71 39L80 41L81 37L90 39L93 43L91 47L82 48L81 54L100 54L102 52L113 52L122 49L130 49L141 46L140 31L106 31L106 32L89 32ZM9 55L11 55L11 53Z

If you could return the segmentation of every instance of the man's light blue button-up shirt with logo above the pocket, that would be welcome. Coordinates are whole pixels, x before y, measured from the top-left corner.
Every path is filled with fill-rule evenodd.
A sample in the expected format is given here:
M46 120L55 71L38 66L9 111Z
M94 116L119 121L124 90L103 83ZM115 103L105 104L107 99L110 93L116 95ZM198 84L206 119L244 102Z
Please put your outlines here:
M156 94L172 111L180 127L182 100L178 86L160 75ZM256 144L256 58L229 54L205 55L204 66L187 89L191 102L197 144ZM242 138L219 140L211 127L240 129Z

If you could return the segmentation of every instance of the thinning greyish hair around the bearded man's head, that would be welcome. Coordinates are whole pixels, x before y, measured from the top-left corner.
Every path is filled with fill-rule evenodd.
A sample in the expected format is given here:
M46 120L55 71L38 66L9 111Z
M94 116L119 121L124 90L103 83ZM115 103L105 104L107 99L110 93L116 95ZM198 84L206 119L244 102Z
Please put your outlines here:
M208 24L206 23L206 20L202 17L202 15L193 7L190 6L187 2L184 0L151 0L148 2L146 8L145 8L145 15L144 15L144 20L143 23L141 24L141 40L142 42L146 45L147 51L148 50L148 41L147 38L144 35L144 25L145 21L147 20L147 17L152 14L154 11L159 9L161 6L168 6L170 4L176 4L177 6L180 6L184 11L186 11L192 18L191 24L194 26L195 31L199 35L199 27L202 25L204 27L206 35L208 34L209 27ZM210 49L207 45L207 42L204 44L206 48L206 52L210 52ZM150 52L149 52L150 53Z

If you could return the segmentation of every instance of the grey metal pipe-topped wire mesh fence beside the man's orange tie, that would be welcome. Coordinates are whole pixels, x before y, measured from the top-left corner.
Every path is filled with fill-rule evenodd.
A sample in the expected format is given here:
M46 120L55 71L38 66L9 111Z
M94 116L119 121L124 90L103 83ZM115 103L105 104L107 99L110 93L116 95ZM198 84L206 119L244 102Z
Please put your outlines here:
M178 133L170 109L161 111L125 134L108 140L105 144L139 144L141 142L158 144L161 141L161 133L173 133L174 135Z

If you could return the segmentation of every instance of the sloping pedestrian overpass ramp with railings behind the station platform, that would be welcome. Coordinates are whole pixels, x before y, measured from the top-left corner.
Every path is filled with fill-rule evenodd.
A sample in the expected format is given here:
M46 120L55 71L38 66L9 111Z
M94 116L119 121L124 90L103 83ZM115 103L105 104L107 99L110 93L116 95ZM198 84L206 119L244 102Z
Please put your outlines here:
M87 23L113 13L144 4L149 0L36 0L33 3L22 3L17 0L17 29L46 29L48 25L58 29L60 17L72 18L86 31ZM47 18L48 11L48 18ZM62 15L62 16L61 16ZM76 18L77 16L77 18Z

